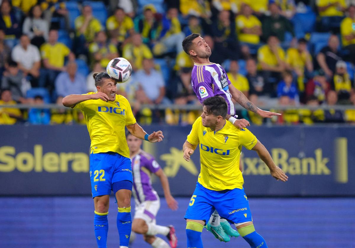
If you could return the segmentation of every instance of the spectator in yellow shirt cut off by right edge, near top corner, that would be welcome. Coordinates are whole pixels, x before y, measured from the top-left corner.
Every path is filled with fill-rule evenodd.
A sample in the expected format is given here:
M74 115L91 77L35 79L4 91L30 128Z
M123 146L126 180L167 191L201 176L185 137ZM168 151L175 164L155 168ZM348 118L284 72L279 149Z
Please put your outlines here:
M343 47L349 51L348 60L355 63L355 5L348 8L348 17L340 24Z

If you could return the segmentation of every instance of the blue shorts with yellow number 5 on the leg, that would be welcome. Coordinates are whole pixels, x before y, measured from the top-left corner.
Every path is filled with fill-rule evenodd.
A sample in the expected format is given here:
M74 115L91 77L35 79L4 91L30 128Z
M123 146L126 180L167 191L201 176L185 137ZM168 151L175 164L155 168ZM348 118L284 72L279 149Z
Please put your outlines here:
M252 221L244 188L215 191L197 182L184 218L207 222L215 209L222 218L235 224Z

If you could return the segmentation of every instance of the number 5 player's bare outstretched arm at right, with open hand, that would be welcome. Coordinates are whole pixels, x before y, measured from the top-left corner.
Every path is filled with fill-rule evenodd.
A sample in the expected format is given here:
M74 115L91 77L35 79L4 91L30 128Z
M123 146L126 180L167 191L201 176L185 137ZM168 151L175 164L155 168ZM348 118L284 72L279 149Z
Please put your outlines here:
M282 169L278 166L275 165L274 161L272 160L272 157L268 150L266 150L265 146L257 140L256 145L252 148L253 151L256 151L258 153L258 156L261 158L261 160L264 161L264 163L269 167L270 169L270 174L277 180L281 180L283 182L286 182L288 179L288 176L282 171Z

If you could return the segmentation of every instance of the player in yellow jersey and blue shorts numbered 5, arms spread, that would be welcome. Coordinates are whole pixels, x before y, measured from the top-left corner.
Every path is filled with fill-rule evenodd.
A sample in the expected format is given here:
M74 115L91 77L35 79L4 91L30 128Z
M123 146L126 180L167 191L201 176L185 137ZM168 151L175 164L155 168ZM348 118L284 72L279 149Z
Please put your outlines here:
M235 224L250 247L267 248L263 237L254 229L244 193L244 180L239 170L242 146L256 151L275 179L285 182L288 176L274 164L269 152L248 129L237 129L226 122L228 107L223 97L207 98L203 105L203 113L192 125L183 145L185 160L190 160L197 146L201 159L201 172L184 217L187 247L203 247L203 225L217 210L222 218Z

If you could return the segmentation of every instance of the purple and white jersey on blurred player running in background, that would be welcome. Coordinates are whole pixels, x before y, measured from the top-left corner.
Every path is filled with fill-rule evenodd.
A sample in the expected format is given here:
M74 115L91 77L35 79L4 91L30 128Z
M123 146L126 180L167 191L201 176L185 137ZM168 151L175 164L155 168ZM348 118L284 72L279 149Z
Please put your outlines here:
M160 165L151 154L140 151L132 158L133 189L136 202L155 201L159 199L152 187L151 174L157 172Z

